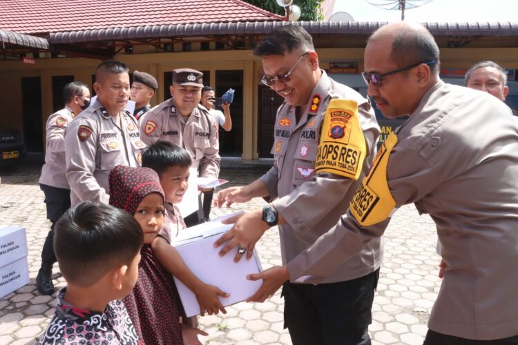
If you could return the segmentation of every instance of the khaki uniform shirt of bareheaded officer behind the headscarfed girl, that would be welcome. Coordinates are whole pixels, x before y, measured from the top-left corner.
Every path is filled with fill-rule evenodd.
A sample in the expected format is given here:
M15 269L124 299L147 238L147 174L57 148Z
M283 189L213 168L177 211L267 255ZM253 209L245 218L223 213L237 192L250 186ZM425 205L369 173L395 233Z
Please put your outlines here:
M137 120L122 111L119 121L122 126L96 99L68 126L66 177L72 206L86 200L108 204L110 171L118 165L140 166L146 145L140 140Z

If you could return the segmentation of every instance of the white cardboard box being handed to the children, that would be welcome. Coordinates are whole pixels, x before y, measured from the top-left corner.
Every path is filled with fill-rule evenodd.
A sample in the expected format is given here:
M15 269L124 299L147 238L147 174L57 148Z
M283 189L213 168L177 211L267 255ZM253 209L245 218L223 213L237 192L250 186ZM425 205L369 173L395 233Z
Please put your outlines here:
M202 224L201 226L208 226L215 224L216 221ZM260 273L261 264L259 257L254 252L253 257L247 260L244 256L240 262L233 262L234 256L238 251L238 247L233 248L227 255L220 257L219 253L224 245L214 248L213 244L224 233L229 230L232 225L218 226L220 230L216 230L215 226L213 229L209 229L207 236L197 236L191 239L191 241L184 241L175 243L174 246L178 253L184 260L185 264L191 271L206 284L217 286L222 291L229 293L230 297L220 298L223 306L230 306L242 302L253 293L255 293L262 284L262 280L252 282L247 280L247 275L251 273ZM193 228L200 228L196 226ZM185 229L186 232L193 228ZM178 294L182 299L184 311L187 317L200 314L200 305L194 293L189 290L180 279L175 279L176 287L178 288Z

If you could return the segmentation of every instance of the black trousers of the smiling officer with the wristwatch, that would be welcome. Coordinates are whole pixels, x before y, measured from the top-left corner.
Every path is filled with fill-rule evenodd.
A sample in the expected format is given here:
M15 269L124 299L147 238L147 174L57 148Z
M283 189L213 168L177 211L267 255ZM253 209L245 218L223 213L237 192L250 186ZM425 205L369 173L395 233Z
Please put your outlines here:
M371 344L368 326L379 269L331 284L282 286L285 328L294 345Z

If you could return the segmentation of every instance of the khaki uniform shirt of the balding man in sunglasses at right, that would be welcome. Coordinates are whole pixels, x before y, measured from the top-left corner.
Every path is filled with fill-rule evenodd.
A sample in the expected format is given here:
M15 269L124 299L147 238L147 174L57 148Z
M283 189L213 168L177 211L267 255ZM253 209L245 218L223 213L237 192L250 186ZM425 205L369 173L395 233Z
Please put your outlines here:
M518 335L518 130L486 92L439 81L397 132L387 184L396 208L414 203L437 224L447 264L428 326L468 339ZM380 237L390 218L362 228L350 210L288 263L319 282Z

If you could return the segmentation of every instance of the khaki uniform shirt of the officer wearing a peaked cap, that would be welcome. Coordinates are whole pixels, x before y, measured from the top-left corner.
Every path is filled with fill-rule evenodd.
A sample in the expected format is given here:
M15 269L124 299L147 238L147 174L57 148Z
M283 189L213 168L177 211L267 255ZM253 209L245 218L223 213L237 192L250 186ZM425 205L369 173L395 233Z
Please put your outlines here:
M166 140L182 146L191 155L192 167L200 167L200 176L217 179L220 146L214 118L202 106L194 108L185 123L180 117L173 98L155 106L139 119L142 141L149 145Z

